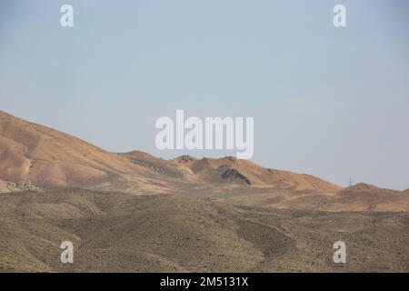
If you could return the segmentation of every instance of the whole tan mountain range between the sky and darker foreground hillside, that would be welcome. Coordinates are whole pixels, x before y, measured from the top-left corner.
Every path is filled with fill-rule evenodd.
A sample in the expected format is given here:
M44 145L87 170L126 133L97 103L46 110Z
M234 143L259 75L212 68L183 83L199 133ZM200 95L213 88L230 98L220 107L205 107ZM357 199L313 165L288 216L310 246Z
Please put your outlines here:
M0 160L0 193L81 187L139 195L182 193L277 209L409 209L407 191L364 183L342 188L232 156L165 160L141 151L109 153L4 112L0 112Z

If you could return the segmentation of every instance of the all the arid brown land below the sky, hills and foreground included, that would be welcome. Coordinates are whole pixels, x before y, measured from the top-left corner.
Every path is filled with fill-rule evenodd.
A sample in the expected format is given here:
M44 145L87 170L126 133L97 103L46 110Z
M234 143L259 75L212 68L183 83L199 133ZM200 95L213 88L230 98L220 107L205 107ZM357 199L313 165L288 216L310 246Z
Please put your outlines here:
M0 112L2 272L408 272L409 191L109 153ZM75 246L62 264L63 241ZM334 242L346 264L334 264Z

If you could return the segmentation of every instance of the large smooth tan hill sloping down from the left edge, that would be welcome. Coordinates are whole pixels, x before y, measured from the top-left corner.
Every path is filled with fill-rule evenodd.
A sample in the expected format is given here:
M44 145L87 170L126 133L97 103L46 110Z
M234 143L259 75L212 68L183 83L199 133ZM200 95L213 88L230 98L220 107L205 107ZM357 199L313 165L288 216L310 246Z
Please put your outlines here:
M45 189L120 180L147 186L146 178L154 173L75 136L4 112L0 112L0 160L1 180Z

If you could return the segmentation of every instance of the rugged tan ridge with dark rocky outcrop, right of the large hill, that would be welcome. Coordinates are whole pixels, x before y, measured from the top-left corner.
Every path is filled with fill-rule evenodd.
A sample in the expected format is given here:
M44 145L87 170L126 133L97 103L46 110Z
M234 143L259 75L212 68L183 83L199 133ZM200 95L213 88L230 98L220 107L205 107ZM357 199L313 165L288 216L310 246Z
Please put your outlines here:
M143 152L132 152L122 156L140 165L154 167L169 176L183 177L187 181L209 184L276 186L296 190L337 191L342 187L314 176L296 174L258 166L251 161L233 156L197 159L193 156L178 156L163 160Z

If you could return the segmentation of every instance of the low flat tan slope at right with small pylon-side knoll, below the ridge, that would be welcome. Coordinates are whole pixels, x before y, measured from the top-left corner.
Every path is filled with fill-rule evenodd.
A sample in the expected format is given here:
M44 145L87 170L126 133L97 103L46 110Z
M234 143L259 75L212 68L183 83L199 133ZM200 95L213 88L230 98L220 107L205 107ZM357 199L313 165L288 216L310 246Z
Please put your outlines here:
M274 209L319 210L325 212L407 212L409 192L358 184L337 191L294 190L260 187L247 191L243 187L196 190L196 196L224 203Z

